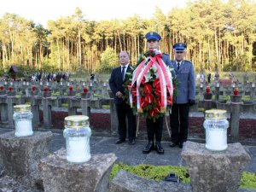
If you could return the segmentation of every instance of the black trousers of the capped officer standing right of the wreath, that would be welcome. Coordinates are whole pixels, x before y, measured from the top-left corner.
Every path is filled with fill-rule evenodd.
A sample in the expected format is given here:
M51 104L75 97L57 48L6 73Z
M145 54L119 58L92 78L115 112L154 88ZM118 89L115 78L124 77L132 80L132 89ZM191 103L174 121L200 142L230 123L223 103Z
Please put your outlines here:
M172 130L172 142L186 142L189 129L189 103L172 105L170 124Z

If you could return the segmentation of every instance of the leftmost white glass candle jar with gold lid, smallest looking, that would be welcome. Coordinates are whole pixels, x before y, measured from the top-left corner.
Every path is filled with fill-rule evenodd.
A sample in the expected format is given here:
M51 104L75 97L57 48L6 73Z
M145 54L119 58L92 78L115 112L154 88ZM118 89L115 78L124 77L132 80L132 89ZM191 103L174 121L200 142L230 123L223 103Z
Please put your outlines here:
M13 119L15 120L15 137L32 136L32 117L30 105L15 105Z

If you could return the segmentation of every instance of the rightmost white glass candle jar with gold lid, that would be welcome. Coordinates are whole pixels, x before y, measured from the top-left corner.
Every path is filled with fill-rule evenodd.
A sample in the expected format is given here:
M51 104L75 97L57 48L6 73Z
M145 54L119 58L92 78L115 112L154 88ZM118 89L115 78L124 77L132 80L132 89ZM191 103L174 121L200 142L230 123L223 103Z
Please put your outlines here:
M213 151L222 151L228 148L227 144L227 113L225 110L211 109L206 111L204 128L206 129L206 148Z

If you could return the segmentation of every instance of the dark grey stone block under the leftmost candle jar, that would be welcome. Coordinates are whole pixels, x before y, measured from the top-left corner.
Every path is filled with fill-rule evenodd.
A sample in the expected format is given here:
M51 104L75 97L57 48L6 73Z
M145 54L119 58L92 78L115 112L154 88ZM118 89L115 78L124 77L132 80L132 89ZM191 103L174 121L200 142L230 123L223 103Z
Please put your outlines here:
M29 137L15 137L15 131L0 135L0 154L7 175L34 189L42 189L38 162L49 154L50 131L34 131Z

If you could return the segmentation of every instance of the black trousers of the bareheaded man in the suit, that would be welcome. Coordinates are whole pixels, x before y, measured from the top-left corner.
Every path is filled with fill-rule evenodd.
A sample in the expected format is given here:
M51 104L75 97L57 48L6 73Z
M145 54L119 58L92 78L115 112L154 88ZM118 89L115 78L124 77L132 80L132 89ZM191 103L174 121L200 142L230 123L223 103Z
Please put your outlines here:
M126 138L126 117L128 119L128 139L136 137L136 116L132 112L132 108L125 102L115 105L119 120L119 139Z

